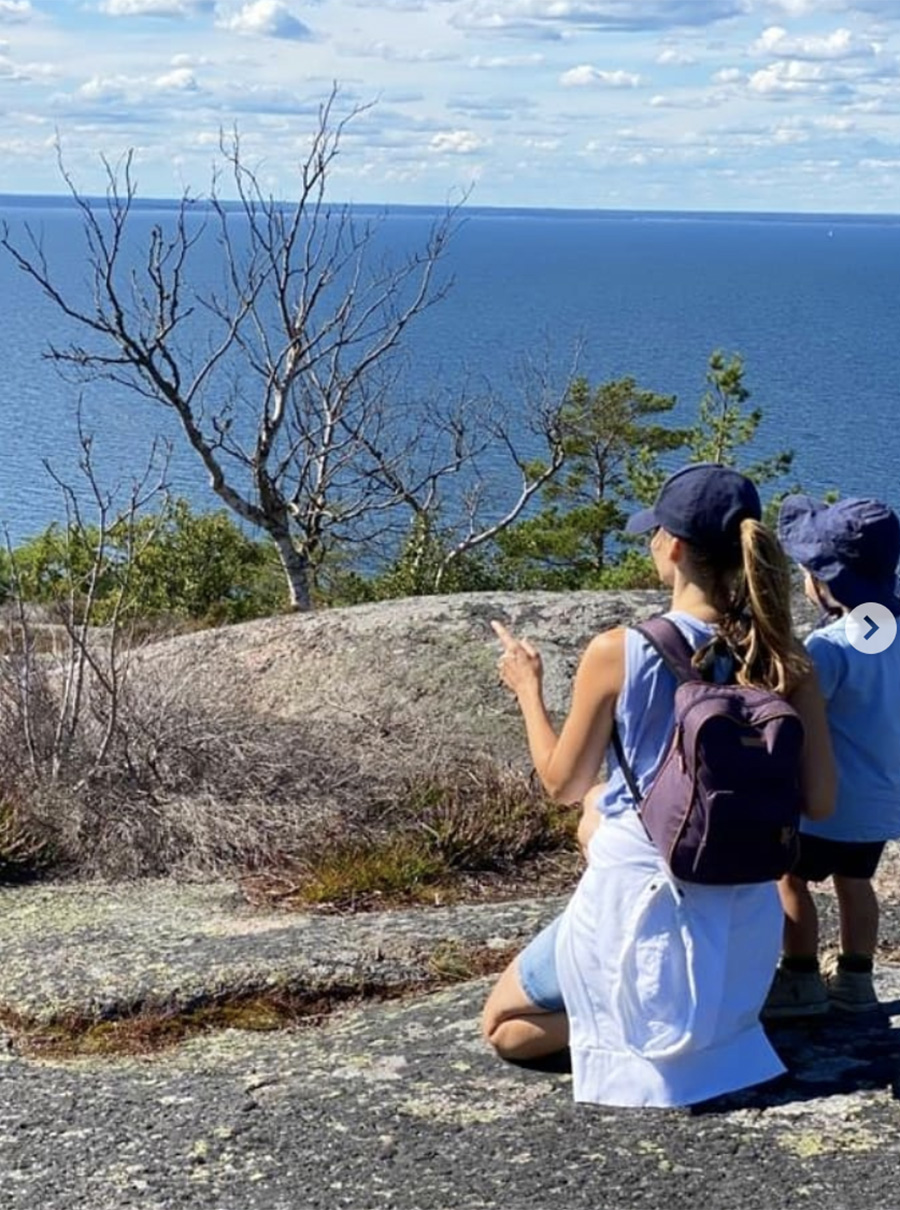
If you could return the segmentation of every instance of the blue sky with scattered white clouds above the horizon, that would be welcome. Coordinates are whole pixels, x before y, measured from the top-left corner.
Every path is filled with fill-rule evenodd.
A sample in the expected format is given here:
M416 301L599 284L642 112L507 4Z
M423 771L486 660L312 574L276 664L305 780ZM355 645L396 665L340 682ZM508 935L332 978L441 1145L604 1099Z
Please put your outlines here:
M900 212L900 0L0 0L0 194Z

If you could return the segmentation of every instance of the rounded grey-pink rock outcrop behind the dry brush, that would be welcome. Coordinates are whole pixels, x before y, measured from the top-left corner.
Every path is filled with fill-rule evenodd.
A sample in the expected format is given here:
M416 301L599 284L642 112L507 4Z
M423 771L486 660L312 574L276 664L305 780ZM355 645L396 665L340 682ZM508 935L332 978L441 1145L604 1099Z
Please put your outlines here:
M405 598L180 635L145 649L138 675L184 685L198 707L230 702L302 721L323 744L339 737L363 767L390 761L392 747L405 767L435 753L488 753L525 767L518 708L497 679L491 620L538 647L547 705L561 720L592 636L667 603L665 593L644 590ZM802 600L796 615L809 626Z

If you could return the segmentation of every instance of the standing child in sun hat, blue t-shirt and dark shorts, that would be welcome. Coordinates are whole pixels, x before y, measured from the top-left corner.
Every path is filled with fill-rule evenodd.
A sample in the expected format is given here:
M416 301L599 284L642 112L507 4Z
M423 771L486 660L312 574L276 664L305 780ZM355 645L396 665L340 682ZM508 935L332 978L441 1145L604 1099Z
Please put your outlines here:
M876 500L817 503L789 496L779 537L806 574L806 594L831 618L807 639L826 701L838 771L830 819L804 819L800 860L781 880L784 952L765 1019L808 1016L830 1007L877 1008L872 958L878 900L872 876L884 842L900 836L900 641L867 653L849 641L846 617L877 603L900 615L900 520ZM809 882L832 878L841 920L837 967L819 972L819 922Z

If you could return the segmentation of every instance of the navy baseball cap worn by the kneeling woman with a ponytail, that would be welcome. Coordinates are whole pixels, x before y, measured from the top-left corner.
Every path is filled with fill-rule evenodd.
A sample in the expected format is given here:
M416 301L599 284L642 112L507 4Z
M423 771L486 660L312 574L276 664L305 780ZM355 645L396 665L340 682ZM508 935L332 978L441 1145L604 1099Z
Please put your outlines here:
M758 522L762 505L745 474L719 462L692 462L665 480L652 508L629 519L625 534L662 526L702 551L731 552L748 517Z

